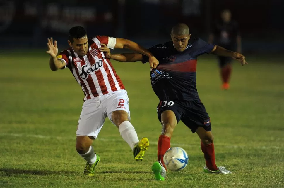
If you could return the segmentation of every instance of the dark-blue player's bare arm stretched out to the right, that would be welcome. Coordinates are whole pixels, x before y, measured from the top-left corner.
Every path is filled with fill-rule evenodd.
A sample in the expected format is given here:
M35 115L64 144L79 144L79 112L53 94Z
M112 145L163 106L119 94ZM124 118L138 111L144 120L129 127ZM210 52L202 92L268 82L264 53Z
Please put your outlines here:
M236 59L239 62L241 62L242 65L248 64L245 60L244 55L237 53L237 52L233 52L231 50L227 50L221 46L215 45L213 50L210 53L218 55L218 56L232 57L233 59Z

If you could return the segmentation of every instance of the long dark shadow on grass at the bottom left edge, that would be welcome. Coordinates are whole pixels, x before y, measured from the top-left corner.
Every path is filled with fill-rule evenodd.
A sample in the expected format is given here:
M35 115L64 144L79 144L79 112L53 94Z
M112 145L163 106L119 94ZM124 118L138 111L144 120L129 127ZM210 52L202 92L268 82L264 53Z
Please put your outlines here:
M48 170L24 170L24 169L8 169L8 168L0 168L0 177L1 176L12 176L12 175L74 175L77 172L71 171L48 171Z

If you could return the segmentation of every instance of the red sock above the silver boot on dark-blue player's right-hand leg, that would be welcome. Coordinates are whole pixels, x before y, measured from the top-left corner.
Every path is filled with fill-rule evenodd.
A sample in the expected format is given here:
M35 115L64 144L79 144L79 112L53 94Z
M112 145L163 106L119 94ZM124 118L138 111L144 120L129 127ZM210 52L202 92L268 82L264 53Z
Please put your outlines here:
M214 151L214 144L211 143L209 145L204 145L201 142L201 150L204 153L204 158L206 161L206 166L211 170L211 171L216 171L218 170L216 163L215 163L215 151Z

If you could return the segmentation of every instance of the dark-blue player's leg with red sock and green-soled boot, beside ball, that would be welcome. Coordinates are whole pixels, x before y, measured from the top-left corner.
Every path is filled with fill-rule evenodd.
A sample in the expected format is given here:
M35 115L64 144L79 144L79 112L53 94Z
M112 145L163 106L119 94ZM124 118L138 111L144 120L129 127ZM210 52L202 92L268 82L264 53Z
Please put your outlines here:
M152 171L155 174L155 180L165 180L166 166L164 164L164 154L171 147L170 139L177 125L177 118L172 110L165 110L161 114L162 134L158 141L158 162L152 166Z

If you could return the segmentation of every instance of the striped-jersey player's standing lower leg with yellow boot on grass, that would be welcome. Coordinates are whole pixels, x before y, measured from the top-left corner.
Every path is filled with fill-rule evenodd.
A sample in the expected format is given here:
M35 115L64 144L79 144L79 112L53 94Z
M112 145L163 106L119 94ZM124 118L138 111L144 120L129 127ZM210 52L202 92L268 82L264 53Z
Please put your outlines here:
M76 137L76 150L78 154L87 161L84 174L93 176L95 167L100 162L100 157L94 153L92 147L94 138L92 136L77 136Z

